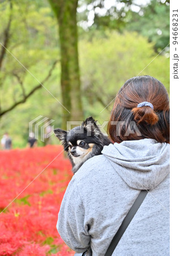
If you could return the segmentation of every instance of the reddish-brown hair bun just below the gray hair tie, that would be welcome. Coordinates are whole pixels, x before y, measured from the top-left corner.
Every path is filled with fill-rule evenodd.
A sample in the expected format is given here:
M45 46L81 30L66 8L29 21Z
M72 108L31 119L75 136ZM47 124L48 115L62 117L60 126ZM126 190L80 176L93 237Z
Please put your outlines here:
M158 116L154 110L149 106L142 106L140 108L132 109L134 114L134 120L139 123L148 123L149 125L155 125L158 122Z

